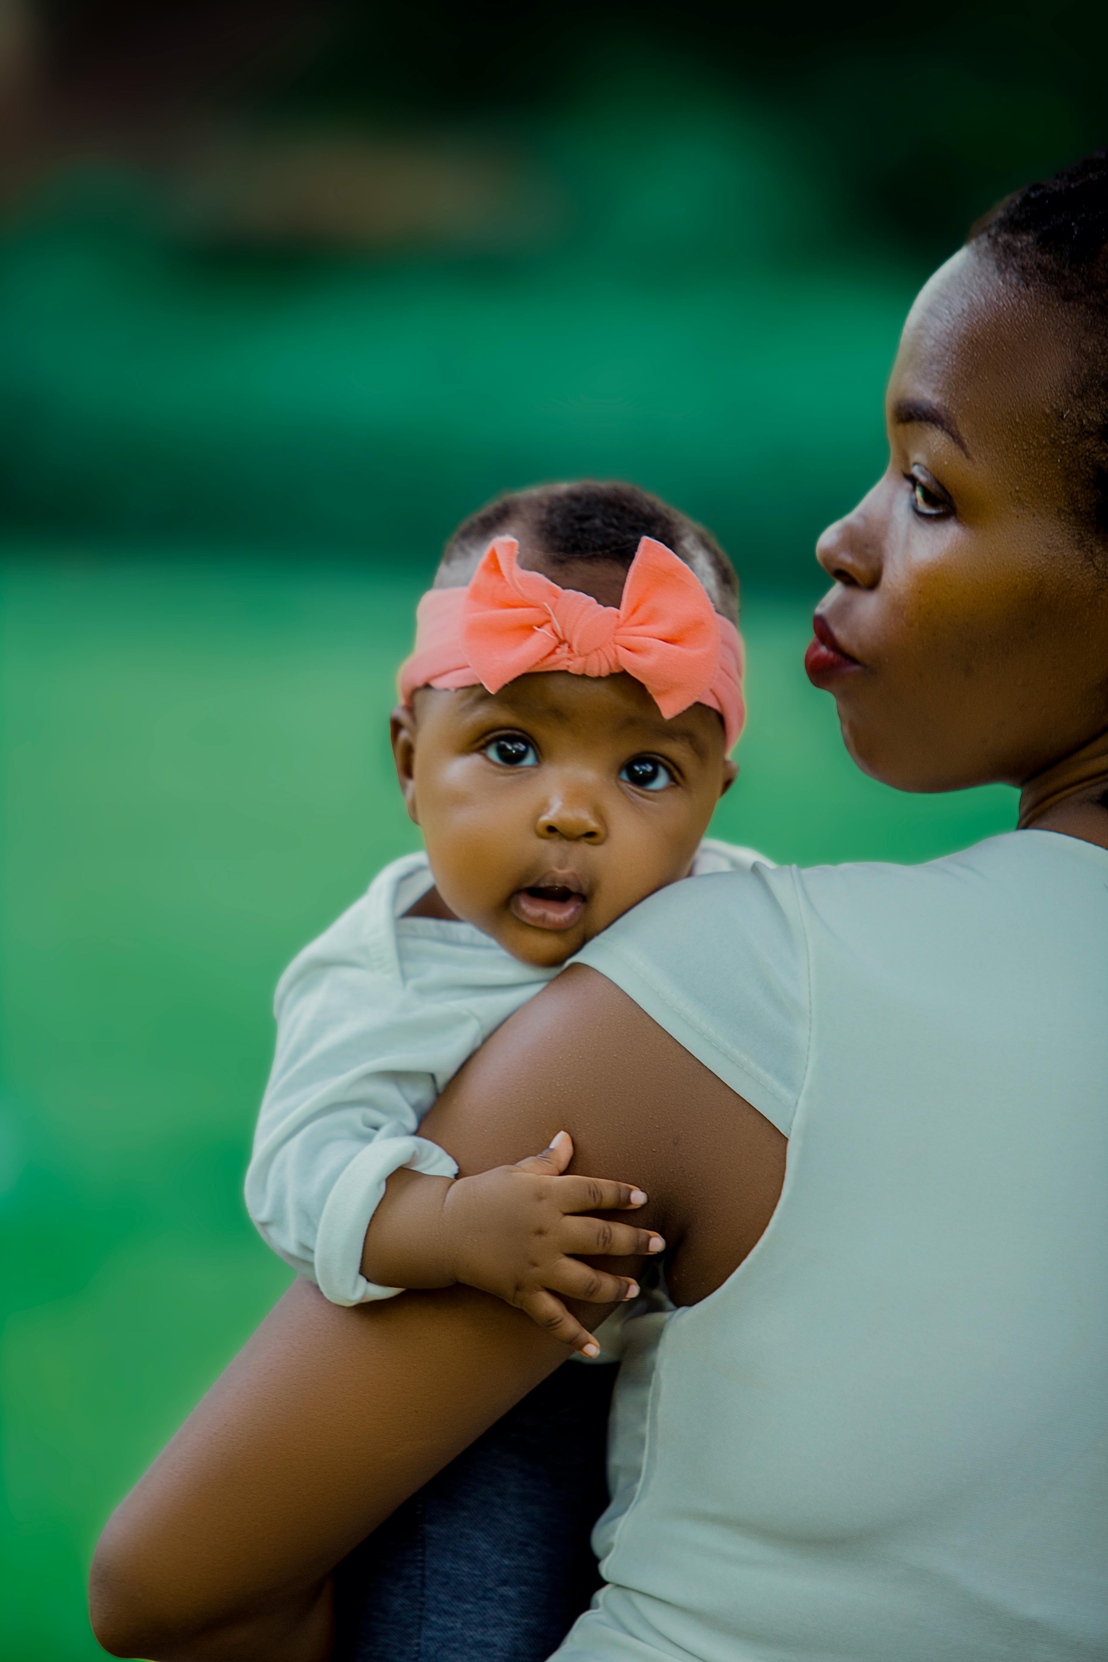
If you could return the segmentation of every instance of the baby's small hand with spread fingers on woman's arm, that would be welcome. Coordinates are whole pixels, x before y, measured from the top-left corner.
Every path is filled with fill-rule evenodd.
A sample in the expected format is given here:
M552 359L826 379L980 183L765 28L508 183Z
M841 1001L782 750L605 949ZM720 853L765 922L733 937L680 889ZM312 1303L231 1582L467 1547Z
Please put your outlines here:
M633 1183L563 1177L571 1158L573 1142L558 1132L550 1148L518 1165L455 1178L444 1195L444 1243L455 1281L495 1293L583 1356L596 1356L600 1346L561 1300L610 1305L635 1298L638 1283L580 1258L653 1255L666 1243L655 1230L583 1217L641 1207L646 1195Z

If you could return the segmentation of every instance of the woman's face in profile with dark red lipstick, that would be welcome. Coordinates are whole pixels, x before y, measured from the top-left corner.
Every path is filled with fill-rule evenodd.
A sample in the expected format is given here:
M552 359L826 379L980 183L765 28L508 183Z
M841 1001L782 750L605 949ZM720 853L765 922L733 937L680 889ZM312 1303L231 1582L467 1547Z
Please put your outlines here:
M819 538L807 671L857 765L904 791L1022 784L1108 726L1108 577L1058 460L1080 339L962 251L889 382L889 469Z

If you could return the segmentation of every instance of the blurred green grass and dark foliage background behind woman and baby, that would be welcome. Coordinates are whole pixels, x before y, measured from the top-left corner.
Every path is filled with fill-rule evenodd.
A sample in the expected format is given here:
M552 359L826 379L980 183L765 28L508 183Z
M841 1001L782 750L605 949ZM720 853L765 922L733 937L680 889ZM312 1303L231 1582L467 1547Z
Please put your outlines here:
M286 1285L241 1203L292 952L414 846L385 715L450 527L630 477L744 585L718 833L925 859L801 671L902 314L1103 136L1108 15L0 7L0 1654Z

